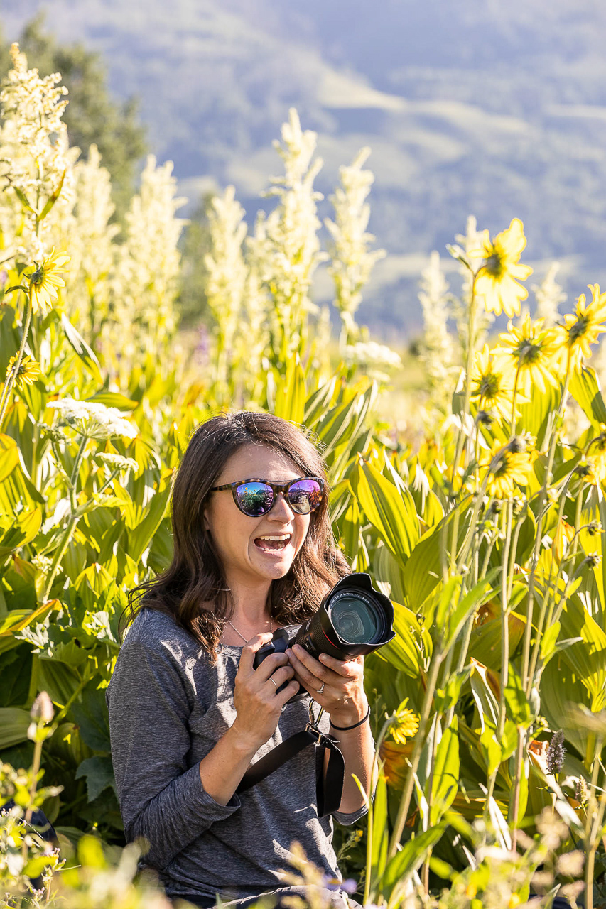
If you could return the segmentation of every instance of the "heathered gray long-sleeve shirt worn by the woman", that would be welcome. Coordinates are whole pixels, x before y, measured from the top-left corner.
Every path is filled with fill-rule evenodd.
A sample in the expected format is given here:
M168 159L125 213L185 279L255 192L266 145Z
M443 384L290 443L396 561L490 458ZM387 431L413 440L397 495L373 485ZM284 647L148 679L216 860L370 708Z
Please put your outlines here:
M297 625L287 629L294 634ZM126 635L107 688L112 759L126 839L145 836L143 862L171 897L255 896L284 885L290 846L341 879L332 822L318 818L313 745L227 805L200 780L198 764L236 718L234 682L241 647L222 646L212 664L173 619L142 609ZM308 698L288 704L253 759L305 728ZM328 732L324 714L320 728ZM319 767L318 767L319 769ZM353 824L365 813L336 813Z

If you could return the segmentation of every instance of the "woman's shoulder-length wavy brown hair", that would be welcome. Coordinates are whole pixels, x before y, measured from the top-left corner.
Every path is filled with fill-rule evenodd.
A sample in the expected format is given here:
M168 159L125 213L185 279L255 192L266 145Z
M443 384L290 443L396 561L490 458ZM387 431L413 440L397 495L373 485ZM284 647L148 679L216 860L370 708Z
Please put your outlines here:
M308 437L278 416L251 411L220 414L197 426L190 436L172 491L173 560L163 574L129 591L126 624L144 606L168 613L215 659L234 601L204 526L204 509L209 490L228 459L251 443L268 445L286 455L302 476L325 480L325 493L318 509L310 514L305 542L288 574L269 588L271 617L282 625L303 622L316 612L327 589L349 574L332 534L326 465Z

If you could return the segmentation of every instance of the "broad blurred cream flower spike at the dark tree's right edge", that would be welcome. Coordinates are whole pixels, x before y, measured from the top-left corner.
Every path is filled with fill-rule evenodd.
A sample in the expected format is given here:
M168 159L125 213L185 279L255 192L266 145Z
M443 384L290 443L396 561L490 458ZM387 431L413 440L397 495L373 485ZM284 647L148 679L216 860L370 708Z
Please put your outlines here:
M112 282L112 315L104 332L107 355L119 350L126 363L170 344L177 317L174 301L180 255L177 242L185 220L177 208L172 162L157 166L147 157L141 188L126 214L126 242L119 247Z

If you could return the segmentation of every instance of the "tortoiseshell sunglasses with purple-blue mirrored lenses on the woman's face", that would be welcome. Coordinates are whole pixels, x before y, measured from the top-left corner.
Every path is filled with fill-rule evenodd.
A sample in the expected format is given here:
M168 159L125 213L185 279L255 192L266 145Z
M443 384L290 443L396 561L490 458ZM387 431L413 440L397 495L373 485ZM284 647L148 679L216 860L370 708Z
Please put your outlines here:
M316 511L322 501L324 493L324 480L318 476L299 476L297 480L288 480L288 483L269 483L268 480L237 480L236 483L226 483L222 486L213 486L211 493L231 489L234 502L243 514L248 517L260 517L268 514L279 493L294 512L309 514Z

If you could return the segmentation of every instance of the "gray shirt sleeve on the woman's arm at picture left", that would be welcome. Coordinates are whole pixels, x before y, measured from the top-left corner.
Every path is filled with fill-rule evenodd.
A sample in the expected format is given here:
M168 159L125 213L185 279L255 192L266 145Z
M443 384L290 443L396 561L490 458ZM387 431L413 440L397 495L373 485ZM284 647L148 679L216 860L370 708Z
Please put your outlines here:
M144 861L158 870L234 814L234 794L218 804L187 766L190 705L186 681L170 654L138 642L123 645L107 694L112 760L127 842L144 836Z

